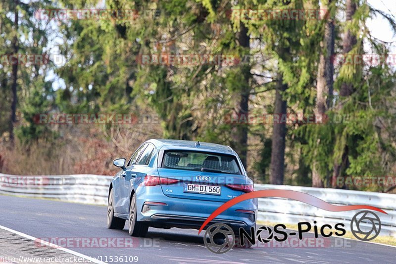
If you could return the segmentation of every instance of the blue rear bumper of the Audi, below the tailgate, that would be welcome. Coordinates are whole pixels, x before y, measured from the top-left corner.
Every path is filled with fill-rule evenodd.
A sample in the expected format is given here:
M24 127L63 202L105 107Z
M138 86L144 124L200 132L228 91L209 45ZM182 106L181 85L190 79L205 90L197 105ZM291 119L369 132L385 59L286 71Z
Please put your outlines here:
M150 189L150 194L144 192L137 195L137 220L149 222L149 225L153 227L199 229L206 218L224 204L222 202L168 197L162 193L161 189L154 189L156 189L156 186ZM145 202L160 202L166 205L150 205L148 208L145 206ZM236 210L250 210L254 213ZM206 227L213 223L225 223L233 229L250 228L250 226L255 225L256 217L257 199L251 199L222 212Z

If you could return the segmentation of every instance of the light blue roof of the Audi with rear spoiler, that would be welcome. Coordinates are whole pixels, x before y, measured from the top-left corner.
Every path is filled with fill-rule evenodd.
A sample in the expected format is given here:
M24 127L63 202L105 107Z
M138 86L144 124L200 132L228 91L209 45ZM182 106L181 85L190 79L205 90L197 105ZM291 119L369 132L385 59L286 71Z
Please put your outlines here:
M196 146L197 141L177 140L177 139L150 139L147 142L154 144L161 150L191 150L191 151L207 151L215 153L224 153L235 155L235 151L229 146L220 144L199 142L199 147Z

